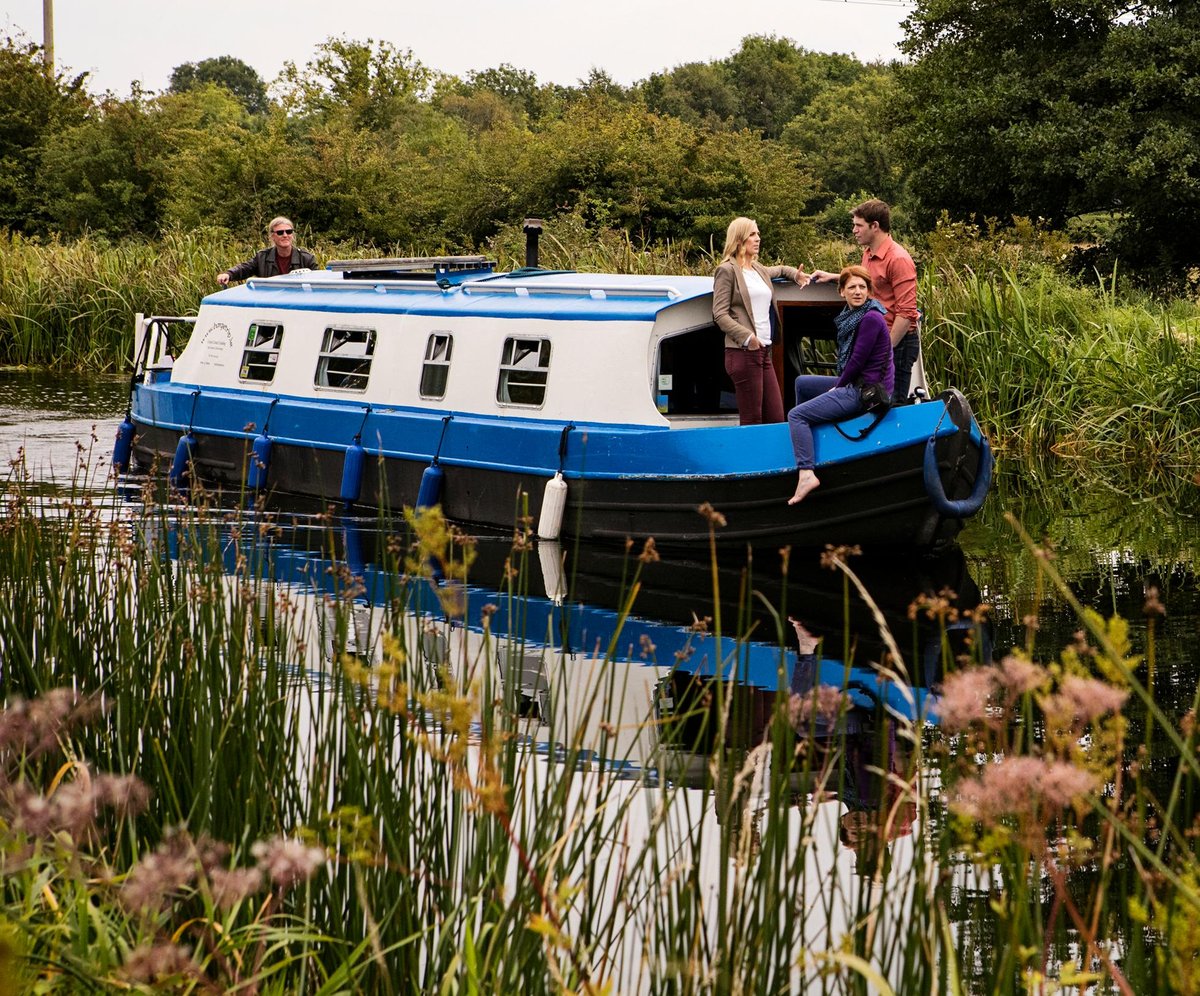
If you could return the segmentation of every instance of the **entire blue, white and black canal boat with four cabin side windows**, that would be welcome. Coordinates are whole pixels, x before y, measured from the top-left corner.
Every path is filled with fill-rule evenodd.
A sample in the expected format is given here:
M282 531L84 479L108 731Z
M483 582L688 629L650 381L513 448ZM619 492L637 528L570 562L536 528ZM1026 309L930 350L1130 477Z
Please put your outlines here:
M535 253L532 257L535 259ZM114 463L176 485L398 509L547 536L929 546L982 505L991 455L958 391L816 431L821 487L787 498L786 425L739 426L697 276L494 272L482 257L335 262L138 316ZM841 301L780 288L785 402L830 358ZM190 335L181 335L188 329Z

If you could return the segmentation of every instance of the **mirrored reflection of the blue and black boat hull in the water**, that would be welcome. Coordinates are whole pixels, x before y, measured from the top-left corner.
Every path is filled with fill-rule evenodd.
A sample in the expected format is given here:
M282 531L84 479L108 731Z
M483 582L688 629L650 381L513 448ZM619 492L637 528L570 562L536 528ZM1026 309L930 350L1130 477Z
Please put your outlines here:
M956 546L914 554L902 570L890 556L848 558L868 604L822 564L828 553L773 551L714 566L660 558L653 545L640 553L476 536L460 581L432 559L409 563L401 580L382 566L389 545L395 557L396 538L377 520L317 516L232 528L223 550L232 574L248 565L289 599L316 599L301 641L310 674L340 649L378 664L380 635L396 628L388 610L402 605L409 653L431 671L486 664L533 740L582 737L593 761L638 776L698 784L718 742L752 749L769 737L781 697L829 685L848 712L835 730L802 730L799 739L844 745L844 797L871 805L876 773L902 767L895 724L937 721L931 690L946 660L990 656L988 629L971 618L979 592ZM823 637L814 658L797 654L790 617ZM845 840L854 826L846 821Z

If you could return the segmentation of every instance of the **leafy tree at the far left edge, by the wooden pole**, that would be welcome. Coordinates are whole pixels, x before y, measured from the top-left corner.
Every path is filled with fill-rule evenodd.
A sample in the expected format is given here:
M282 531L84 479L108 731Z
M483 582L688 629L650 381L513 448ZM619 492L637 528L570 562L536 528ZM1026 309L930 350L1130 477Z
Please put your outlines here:
M47 76L32 43L6 37L0 44L0 226L22 232L46 226L42 149L56 132L88 116L85 79Z

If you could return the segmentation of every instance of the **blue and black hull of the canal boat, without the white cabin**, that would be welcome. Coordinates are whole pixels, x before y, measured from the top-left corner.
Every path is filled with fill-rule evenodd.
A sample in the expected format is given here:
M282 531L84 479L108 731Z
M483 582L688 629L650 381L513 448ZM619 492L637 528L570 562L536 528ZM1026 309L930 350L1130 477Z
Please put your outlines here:
M192 474L226 490L246 487L254 458L253 418L217 404L203 413L204 421L193 419L188 425L172 416L172 406L166 396L152 394L152 385L139 391L133 413L136 462L170 466L181 432L191 428ZM562 532L568 536L618 542L653 536L660 546L695 546L709 539L710 520L698 510L707 503L724 520L713 526L721 544L934 546L953 539L962 518L938 511L931 500L928 464L936 463L937 480L953 503L972 493L990 457L982 451L983 437L961 395L950 391L919 408L926 410L899 409L888 418L900 428L883 425L878 438L872 434L858 443L836 437L834 426L820 427L818 461L822 449L827 457L817 468L821 486L794 506L787 498L796 470L781 425L637 432L462 421L451 434L445 420L398 414L389 422L374 415L374 439L361 432L366 454L355 504L392 510L416 504L422 478L437 463L442 472L437 499L449 518L508 529L524 516L538 522L546 482L562 467L568 484ZM216 418L222 410L223 424ZM280 433L260 475L269 502L341 503L347 450L355 445L354 419L337 420L341 427L324 439L304 440L289 436L318 430L289 428L286 407L270 418ZM686 433L708 434L683 438ZM926 452L930 438L932 452ZM722 446L728 448L728 462L740 463L732 473L713 473L710 466L689 473L688 467L700 462L691 449L708 454ZM660 454L656 473L655 452Z

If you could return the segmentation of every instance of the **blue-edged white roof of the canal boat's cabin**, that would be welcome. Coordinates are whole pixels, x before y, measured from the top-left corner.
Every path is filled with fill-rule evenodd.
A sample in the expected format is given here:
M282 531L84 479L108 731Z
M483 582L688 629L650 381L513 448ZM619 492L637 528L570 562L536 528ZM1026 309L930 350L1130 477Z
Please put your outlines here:
M518 271L445 287L434 281L343 280L324 270L251 278L206 306L481 318L653 322L713 293L712 277Z

